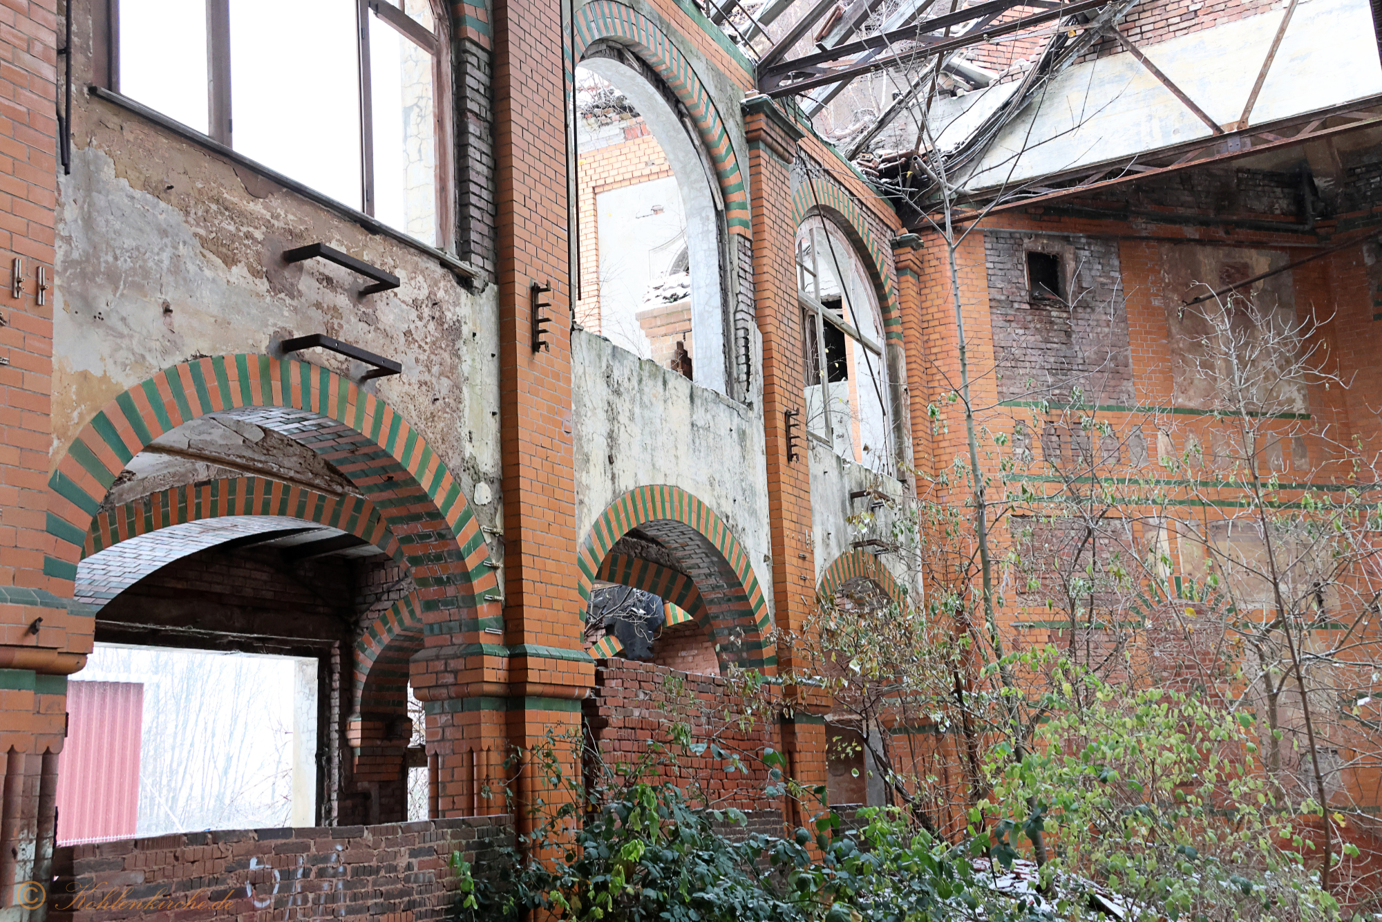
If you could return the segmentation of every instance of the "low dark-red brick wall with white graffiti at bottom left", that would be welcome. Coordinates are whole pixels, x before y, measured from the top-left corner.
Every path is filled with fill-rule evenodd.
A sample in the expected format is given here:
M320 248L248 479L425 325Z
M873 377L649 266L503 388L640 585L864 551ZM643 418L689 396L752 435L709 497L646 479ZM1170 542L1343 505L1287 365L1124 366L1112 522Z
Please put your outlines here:
M58 849L48 918L442 919L449 860L484 874L513 843L509 817L375 827L187 832Z

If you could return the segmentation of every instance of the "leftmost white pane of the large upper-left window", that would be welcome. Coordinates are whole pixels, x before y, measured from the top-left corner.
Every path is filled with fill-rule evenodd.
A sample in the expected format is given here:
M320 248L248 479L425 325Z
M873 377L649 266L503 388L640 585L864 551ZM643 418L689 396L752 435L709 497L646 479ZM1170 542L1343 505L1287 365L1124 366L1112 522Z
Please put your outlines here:
M120 93L206 131L206 4L120 0Z

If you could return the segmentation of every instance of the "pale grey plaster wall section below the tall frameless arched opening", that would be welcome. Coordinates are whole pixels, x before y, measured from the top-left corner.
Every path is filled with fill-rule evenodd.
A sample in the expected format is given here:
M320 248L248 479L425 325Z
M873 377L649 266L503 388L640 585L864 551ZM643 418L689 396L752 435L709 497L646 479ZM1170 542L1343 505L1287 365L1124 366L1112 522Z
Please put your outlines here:
M572 332L571 352L576 534L630 489L672 484L724 520L771 586L761 402L721 397L585 330Z

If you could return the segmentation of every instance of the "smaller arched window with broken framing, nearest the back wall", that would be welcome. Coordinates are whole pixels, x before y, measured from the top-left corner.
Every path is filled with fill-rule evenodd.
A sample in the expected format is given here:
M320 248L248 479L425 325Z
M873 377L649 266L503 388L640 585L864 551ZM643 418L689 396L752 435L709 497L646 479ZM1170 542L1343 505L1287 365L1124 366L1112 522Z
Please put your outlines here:
M796 270L807 434L842 458L894 474L883 314L869 274L840 229L820 216L797 229Z

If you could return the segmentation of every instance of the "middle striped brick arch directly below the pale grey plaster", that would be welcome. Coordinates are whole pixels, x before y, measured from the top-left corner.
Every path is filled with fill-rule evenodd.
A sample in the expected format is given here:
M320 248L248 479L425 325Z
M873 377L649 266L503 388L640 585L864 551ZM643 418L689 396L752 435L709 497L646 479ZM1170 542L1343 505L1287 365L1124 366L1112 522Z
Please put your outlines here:
M609 550L634 528L658 539L687 571L723 655L744 665L777 665L771 612L748 553L714 510L680 487L638 487L596 518L576 550L582 618Z

